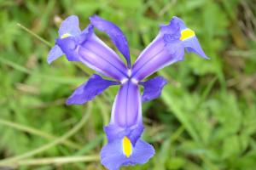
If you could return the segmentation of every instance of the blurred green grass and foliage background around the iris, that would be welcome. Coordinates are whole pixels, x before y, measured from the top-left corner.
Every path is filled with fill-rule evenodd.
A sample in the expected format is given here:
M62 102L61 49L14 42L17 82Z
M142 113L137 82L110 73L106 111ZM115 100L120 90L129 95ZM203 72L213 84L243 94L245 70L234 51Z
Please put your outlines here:
M255 0L0 0L0 169L104 169L102 127L118 88L66 106L93 71L65 57L48 65L47 43L17 25L54 44L68 15L78 15L84 29L98 14L125 32L133 61L174 15L195 30L211 58L186 54L157 73L169 83L159 99L143 104L143 139L156 154L121 169L255 170L255 8Z

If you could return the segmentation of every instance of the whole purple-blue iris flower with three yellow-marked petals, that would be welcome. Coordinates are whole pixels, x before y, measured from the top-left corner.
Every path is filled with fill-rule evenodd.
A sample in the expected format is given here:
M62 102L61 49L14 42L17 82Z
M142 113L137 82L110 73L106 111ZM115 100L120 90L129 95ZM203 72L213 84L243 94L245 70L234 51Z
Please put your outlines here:
M126 63L96 36L94 28L108 34ZM48 62L66 54L69 61L82 62L111 79L92 75L67 99L67 105L82 105L102 94L109 86L120 86L113 102L111 121L104 127L108 144L102 148L101 162L108 169L117 170L121 166L143 164L154 156L154 147L141 139L142 102L159 97L167 81L163 77L143 80L155 71L183 60L184 50L208 59L195 32L177 17L173 17L168 25L160 26L157 37L133 65L127 39L112 22L94 15L90 17L90 25L84 31L79 29L77 16L70 16L61 23L59 38L49 51ZM139 86L143 86L143 95L140 94Z

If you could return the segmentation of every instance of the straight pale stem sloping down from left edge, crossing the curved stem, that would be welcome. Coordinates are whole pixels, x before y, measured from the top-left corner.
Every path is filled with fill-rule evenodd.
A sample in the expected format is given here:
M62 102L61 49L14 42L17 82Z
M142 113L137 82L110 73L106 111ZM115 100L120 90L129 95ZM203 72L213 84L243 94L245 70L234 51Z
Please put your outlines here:
M57 137L53 136L52 134L44 133L44 132L42 132L42 131L40 131L36 128L27 127L27 126L20 125L20 124L15 123L15 122L9 122L9 121L3 120L3 119L0 119L0 125L7 126L7 127L13 127L13 128L18 129L20 131L23 131L23 132L26 132L26 133L31 133L31 134L43 137L44 139L49 139L49 140L57 139ZM72 141L69 141L69 140L64 140L63 144L66 144L67 146L70 146L74 149L81 149L81 146L79 144L75 144L75 143L73 143Z

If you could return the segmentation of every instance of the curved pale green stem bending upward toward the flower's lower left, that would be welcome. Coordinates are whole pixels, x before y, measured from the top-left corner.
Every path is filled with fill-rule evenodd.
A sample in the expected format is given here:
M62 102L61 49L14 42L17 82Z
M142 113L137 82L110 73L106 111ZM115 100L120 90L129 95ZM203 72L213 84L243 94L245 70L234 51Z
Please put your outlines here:
M70 131L68 131L63 136L61 136L59 139L55 139L53 142L50 142L49 144L44 144L43 146L35 150L26 152L25 154L21 154L20 156L14 156L14 157L4 159L3 161L0 161L0 166L11 165L13 162L20 161L27 157L37 155L38 153L43 152L44 150L49 150L49 148L55 146L56 144L62 143L64 140L70 138L74 133L77 133L79 129L84 126L84 123L87 122L87 120L89 119L90 111L91 111L91 106L89 105L88 111L86 111L86 114L84 114L81 121L75 127L73 127Z

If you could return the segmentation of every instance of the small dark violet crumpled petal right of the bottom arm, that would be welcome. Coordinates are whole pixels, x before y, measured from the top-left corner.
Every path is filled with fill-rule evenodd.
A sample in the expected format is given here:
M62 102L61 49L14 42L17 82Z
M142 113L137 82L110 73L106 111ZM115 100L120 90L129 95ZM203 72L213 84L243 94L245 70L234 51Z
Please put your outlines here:
M164 77L154 77L146 82L140 82L144 87L143 102L158 98L166 83Z

